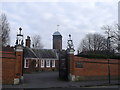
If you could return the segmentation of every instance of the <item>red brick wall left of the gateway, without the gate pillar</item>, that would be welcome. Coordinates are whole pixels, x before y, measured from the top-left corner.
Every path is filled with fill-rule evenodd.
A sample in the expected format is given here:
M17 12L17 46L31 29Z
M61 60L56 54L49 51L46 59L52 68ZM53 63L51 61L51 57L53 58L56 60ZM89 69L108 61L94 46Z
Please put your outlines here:
M15 76L15 55L14 52L0 52L2 62L2 84L13 84Z

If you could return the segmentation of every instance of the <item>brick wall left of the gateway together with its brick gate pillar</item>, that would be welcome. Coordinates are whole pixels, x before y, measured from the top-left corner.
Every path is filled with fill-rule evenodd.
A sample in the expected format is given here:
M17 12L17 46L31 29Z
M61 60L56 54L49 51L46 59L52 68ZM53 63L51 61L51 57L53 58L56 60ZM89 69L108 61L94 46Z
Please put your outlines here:
M0 72L2 72L2 84L20 83L19 81L23 74L22 58L22 52L15 51L14 48L10 46L2 47L2 51L0 51L0 62L2 63Z

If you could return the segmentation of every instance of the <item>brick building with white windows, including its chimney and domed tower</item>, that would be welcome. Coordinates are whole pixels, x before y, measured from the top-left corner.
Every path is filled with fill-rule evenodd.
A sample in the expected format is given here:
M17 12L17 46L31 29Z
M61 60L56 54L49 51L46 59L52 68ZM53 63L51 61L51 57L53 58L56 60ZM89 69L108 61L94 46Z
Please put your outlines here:
M62 50L62 35L53 33L53 49L31 48L30 37L27 36L24 47L24 72L53 71L59 69L59 51Z

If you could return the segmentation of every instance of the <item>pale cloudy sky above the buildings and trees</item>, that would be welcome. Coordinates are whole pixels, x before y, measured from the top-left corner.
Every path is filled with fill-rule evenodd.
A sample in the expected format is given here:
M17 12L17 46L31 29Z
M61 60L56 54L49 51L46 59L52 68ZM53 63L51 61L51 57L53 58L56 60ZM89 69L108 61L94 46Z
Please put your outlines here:
M75 50L88 33L104 33L103 25L118 23L119 0L48 0L0 2L1 11L10 23L11 45L15 45L18 28L22 27L24 39L40 35L45 49L52 49L52 35L58 31L63 36L63 49L68 35L72 35Z

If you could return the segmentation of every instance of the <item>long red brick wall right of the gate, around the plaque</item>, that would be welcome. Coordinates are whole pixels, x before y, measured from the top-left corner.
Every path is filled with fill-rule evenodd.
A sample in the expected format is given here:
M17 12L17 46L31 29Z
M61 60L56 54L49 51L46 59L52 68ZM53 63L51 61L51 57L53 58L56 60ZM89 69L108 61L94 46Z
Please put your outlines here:
M76 68L76 62L83 63L83 68ZM118 78L117 59L109 59L111 78ZM74 56L73 75L81 76L86 79L108 79L108 60L107 59L88 59Z

